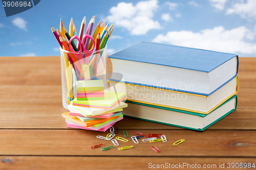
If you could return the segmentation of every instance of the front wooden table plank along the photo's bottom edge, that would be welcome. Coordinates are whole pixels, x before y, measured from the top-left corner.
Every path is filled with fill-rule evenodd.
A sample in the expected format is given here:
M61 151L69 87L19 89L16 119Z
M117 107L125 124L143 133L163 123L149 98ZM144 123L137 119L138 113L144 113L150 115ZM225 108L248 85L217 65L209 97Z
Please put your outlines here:
M157 155L157 153L156 153ZM103 161L99 161L103 160ZM252 163L256 162L256 158L187 158L187 157L77 157L77 156L1 156L0 167L3 169L152 169L151 165L157 166L157 164L165 164L168 166L178 167L179 163L184 164L183 169L195 169L192 168L192 164L200 164L201 167L204 164L209 167L219 169L220 164L225 168L228 168L228 163ZM152 164L150 164L152 163ZM169 165L170 164L170 165ZM189 165L190 168L189 168ZM162 166L163 167L163 166ZM182 169L182 168L176 168ZM240 169L240 168L239 168ZM250 169L250 168L249 168Z

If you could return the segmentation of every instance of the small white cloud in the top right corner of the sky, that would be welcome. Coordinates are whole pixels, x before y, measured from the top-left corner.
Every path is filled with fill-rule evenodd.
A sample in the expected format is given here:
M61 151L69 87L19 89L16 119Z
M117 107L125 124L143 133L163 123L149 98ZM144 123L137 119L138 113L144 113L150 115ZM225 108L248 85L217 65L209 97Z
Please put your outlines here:
M227 14L239 14L244 18L255 17L256 16L256 1L248 0L246 3L240 1L234 3L232 8L227 9Z

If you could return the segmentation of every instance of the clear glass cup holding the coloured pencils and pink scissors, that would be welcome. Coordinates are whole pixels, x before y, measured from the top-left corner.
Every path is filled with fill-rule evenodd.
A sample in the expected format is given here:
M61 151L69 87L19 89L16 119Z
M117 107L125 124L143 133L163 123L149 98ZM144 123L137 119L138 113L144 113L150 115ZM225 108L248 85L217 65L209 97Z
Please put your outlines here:
M99 81L108 89L106 47L92 52L70 52L60 48L62 105L68 109L68 104L77 98L78 81ZM92 81L91 81L92 82Z

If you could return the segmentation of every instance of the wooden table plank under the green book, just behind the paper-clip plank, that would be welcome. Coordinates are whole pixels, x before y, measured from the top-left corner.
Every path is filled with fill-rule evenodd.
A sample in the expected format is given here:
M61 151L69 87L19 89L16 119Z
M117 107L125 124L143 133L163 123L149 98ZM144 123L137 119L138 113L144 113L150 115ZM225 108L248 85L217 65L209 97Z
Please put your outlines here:
M2 107L0 129L67 129L63 107ZM209 130L256 130L256 109L240 109L230 113ZM115 127L121 130L185 130L173 126L124 117Z

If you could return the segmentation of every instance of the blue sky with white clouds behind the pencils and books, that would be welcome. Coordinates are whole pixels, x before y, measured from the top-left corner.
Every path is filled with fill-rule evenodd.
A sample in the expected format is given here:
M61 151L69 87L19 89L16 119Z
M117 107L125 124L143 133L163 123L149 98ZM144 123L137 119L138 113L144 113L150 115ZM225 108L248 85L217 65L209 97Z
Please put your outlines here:
M88 25L95 15L96 24L114 24L109 54L153 41L256 57L255 0L42 0L10 17L0 8L0 56L58 56L50 26L59 28L62 18L67 29L73 17L79 32L83 16Z

